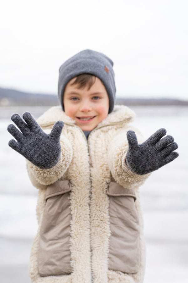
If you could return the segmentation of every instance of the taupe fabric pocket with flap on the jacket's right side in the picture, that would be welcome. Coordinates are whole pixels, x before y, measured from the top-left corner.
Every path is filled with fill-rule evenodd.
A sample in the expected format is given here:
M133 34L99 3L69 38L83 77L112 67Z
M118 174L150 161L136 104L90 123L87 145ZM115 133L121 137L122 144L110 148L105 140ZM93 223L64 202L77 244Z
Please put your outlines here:
M108 269L136 273L140 260L140 233L135 192L110 182L107 195L111 230Z

